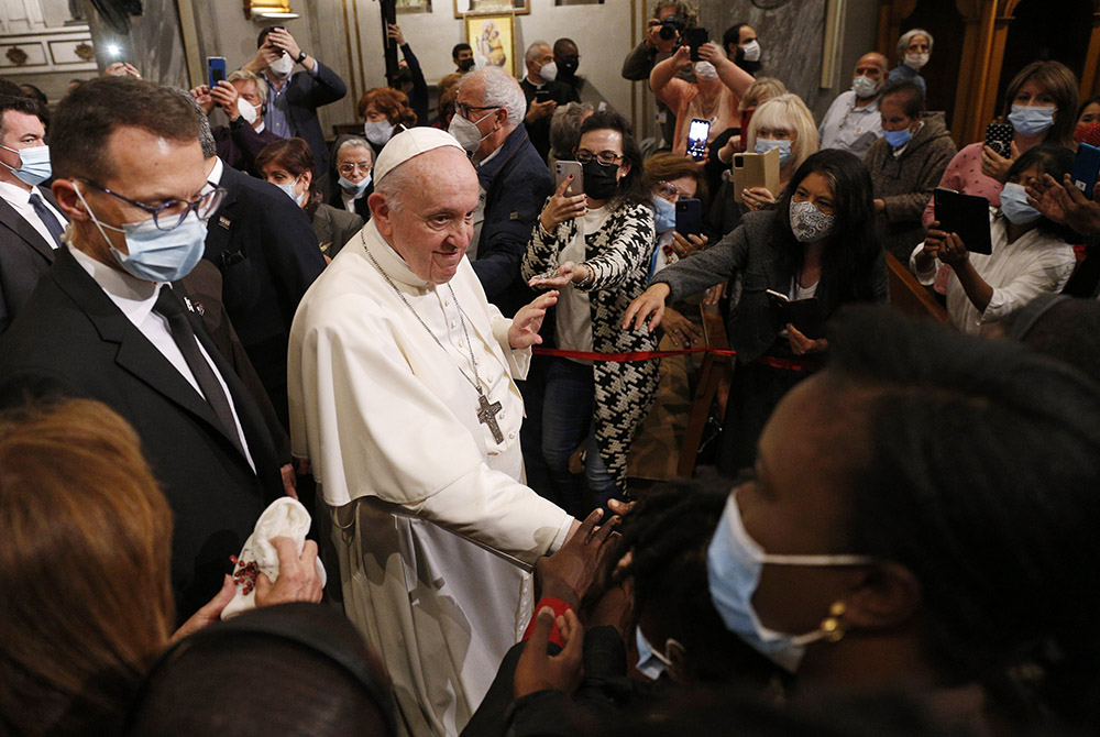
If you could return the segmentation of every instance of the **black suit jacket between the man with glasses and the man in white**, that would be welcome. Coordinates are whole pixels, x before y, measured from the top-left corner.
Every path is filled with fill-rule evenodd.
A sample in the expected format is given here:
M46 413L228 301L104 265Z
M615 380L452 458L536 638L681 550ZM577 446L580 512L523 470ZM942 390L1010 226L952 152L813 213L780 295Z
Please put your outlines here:
M226 166L226 199L210 218L205 256L279 420L287 426L286 350L294 311L324 268L309 217L278 187Z

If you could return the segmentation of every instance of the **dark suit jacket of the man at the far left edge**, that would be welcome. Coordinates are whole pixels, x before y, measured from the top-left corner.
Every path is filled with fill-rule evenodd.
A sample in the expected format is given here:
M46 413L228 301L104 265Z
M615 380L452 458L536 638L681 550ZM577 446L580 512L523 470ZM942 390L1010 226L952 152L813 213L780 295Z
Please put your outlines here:
M61 211L48 189L36 189ZM11 205L0 199L0 333L15 319L53 263L54 250L45 239Z

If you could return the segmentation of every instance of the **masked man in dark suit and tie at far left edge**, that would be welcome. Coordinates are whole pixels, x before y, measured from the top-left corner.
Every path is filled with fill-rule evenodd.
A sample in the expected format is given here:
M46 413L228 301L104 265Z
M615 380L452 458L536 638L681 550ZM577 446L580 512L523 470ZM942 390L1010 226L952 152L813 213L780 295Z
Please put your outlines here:
M54 263L66 223L54 196L36 186L46 170L31 176L18 153L44 146L44 136L36 101L0 95L0 333Z

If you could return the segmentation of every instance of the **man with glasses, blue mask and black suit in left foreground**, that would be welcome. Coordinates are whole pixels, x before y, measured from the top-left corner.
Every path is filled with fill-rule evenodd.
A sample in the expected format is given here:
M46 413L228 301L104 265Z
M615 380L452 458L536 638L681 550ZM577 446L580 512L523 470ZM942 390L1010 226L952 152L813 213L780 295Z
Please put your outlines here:
M173 90L107 77L58 106L51 135L73 238L0 341L0 382L9 396L15 385L95 398L134 426L173 509L183 619L282 494L255 404L186 295L169 295L175 314L162 304L201 256L200 218L219 196L204 194L198 118Z

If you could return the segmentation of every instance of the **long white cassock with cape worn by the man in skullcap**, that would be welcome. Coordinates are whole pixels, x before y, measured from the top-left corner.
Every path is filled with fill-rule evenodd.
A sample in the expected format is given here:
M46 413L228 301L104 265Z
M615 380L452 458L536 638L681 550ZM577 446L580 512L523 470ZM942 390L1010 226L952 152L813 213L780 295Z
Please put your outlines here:
M418 737L457 735L477 708L530 618L531 566L572 522L520 481L513 377L530 351L508 346L510 324L468 260L433 286L372 221L306 293L290 331L294 451L308 455L332 508L348 615ZM503 406L503 442L479 422L465 334L490 402Z

